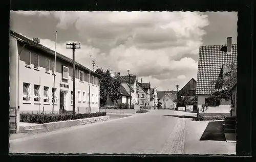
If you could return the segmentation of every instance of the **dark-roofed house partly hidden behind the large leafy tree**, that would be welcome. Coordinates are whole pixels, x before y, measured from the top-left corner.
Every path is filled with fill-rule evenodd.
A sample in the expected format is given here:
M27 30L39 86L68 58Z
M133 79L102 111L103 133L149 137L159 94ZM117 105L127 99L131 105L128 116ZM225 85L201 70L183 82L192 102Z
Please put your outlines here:
M112 77L112 80L114 81L115 78ZM120 103L129 103L130 104L130 91L126 90L123 85L119 87L119 92L121 94L120 99L117 101L112 101L110 97L106 100L105 106L116 106Z

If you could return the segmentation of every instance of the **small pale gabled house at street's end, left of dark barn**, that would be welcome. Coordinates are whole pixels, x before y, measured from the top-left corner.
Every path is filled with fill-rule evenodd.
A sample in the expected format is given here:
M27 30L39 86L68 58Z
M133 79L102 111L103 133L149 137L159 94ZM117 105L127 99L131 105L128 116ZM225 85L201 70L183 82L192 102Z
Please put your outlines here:
M163 95L159 96L161 98L158 99L159 102L162 103L162 109L175 109L176 104L174 100L177 98L177 95L174 93L163 93Z

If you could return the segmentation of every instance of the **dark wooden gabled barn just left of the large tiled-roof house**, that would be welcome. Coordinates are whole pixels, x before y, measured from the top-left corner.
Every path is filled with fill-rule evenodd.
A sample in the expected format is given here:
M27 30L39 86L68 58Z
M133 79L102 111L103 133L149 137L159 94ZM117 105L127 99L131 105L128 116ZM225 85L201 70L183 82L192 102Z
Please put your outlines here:
M177 93L177 99L181 100L182 97L187 96L189 99L195 98L196 97L196 88L197 88L197 81L194 78L191 78L189 82ZM182 108L185 109L185 105L182 104L177 104L178 110L179 107L184 107ZM193 108L192 108L193 111Z

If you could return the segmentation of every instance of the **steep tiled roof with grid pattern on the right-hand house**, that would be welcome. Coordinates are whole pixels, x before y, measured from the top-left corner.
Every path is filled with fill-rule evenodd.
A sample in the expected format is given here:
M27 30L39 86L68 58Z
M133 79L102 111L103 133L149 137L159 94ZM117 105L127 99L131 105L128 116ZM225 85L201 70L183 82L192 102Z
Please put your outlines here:
M237 44L232 44L232 53L221 48L227 45L206 45L199 47L196 94L209 94L210 83L216 80L223 64L237 62Z

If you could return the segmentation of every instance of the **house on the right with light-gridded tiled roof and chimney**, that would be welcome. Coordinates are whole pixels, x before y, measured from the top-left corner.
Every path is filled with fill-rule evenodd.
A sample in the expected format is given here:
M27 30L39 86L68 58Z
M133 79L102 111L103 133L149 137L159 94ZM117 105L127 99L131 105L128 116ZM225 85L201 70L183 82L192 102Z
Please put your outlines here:
M212 90L210 83L219 77L223 65L237 62L237 44L231 42L232 38L228 37L227 45L199 47L196 94L198 95L200 113L202 113L201 105L205 103L205 98L209 96ZM212 103L205 113L229 113L229 110L230 101L222 100L221 103Z

